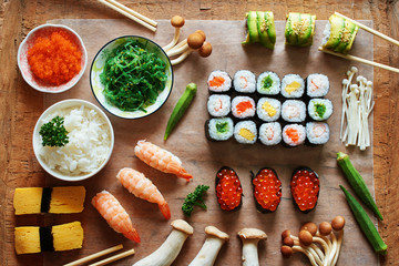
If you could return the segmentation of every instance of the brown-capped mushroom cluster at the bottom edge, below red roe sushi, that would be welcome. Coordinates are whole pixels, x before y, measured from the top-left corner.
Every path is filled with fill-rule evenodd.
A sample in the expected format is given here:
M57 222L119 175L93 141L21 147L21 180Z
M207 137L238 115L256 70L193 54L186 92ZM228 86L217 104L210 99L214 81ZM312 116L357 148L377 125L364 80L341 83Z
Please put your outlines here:
M334 266L337 264L344 239L345 218L337 216L331 223L323 222L319 227L315 223L306 223L300 227L298 236L284 231L282 234L284 257L293 253L304 253L314 266ZM332 232L337 232L338 237Z

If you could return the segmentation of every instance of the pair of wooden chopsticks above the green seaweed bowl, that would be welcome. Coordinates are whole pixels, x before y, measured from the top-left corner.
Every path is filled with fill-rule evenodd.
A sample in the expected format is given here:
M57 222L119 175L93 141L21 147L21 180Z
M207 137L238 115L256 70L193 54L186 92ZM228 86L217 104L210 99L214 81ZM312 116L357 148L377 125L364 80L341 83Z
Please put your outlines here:
M137 22L139 24L144 25L149 30L152 30L154 32L156 31L157 23L154 20L149 19L147 17L127 8L126 6L123 6L122 3L116 2L115 0L98 0L98 1L115 10L116 12L126 16L131 20Z

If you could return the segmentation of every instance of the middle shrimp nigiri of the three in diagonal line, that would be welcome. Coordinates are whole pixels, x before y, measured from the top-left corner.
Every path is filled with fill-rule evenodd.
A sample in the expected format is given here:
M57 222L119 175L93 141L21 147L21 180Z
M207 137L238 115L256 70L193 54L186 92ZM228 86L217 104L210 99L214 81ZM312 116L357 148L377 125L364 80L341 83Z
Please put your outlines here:
M165 219L171 218L171 209L167 205L167 202L162 196L161 192L156 186L144 176L144 174L132 170L132 168L122 168L116 178L122 183L122 185L136 197L143 198L151 203L156 203L165 217Z

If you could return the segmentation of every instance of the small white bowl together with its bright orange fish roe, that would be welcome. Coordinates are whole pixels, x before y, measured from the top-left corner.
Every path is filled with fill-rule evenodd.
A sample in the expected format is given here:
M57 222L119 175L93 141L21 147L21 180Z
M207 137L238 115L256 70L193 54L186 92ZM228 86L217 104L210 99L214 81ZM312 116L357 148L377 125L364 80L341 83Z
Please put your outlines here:
M18 49L18 66L24 81L40 92L60 93L74 86L88 64L80 35L62 24L31 30Z

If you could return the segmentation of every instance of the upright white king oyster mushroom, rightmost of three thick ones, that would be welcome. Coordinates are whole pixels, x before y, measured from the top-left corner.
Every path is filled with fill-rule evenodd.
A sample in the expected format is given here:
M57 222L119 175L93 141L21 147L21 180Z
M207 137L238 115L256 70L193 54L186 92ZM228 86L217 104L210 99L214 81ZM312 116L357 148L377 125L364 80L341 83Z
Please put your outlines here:
M243 241L243 266L258 266L257 244L260 239L267 238L266 233L256 228L243 228L238 236Z

